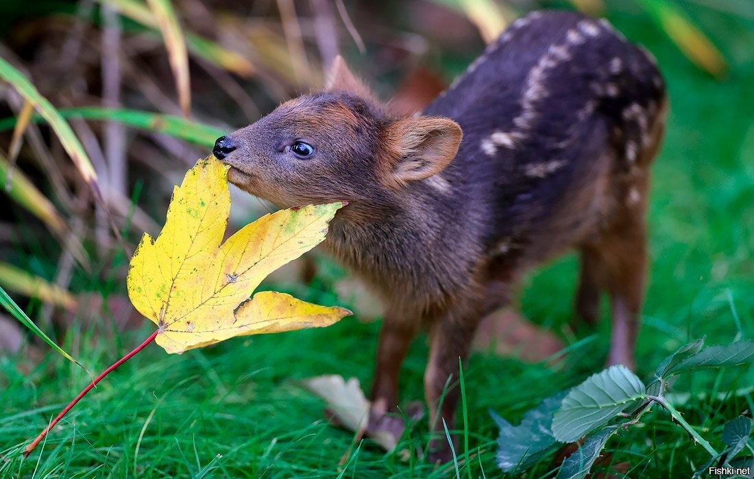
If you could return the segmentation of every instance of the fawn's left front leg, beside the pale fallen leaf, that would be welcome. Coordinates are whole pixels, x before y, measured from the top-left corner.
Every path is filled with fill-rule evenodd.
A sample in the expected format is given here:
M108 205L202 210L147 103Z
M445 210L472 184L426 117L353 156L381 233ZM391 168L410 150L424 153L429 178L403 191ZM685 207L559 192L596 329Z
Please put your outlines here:
M385 317L377 345L377 368L372 383L372 409L369 411L369 431L390 432L395 438L403 434L404 423L397 413L398 377L400 365L415 337L416 327L409 322Z

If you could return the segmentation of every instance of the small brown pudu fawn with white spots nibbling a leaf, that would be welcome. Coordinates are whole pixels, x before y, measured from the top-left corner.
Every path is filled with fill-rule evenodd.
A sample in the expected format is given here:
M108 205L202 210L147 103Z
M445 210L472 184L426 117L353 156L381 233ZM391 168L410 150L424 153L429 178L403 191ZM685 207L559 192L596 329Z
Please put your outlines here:
M454 428L459 358L543 261L578 251L576 312L596 322L606 291L608 362L633 367L665 105L654 61L607 22L535 12L421 114L394 114L339 58L321 93L223 136L213 153L232 183L278 206L348 202L323 245L385 301L369 427L400 422L387 415L400 365L428 328L430 452L448 459L442 420Z

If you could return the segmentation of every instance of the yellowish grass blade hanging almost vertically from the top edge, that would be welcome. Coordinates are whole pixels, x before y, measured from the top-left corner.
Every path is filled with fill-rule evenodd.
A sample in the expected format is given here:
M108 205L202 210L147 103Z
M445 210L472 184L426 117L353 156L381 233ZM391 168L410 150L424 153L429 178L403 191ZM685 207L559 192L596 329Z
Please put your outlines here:
M165 48L170 58L170 68L173 69L173 76L176 78L176 89L178 90L178 100L181 105L183 116L189 117L191 114L191 84L189 80L189 56L186 53L185 39L176 11L170 0L147 0L152 14L162 33L165 41Z

